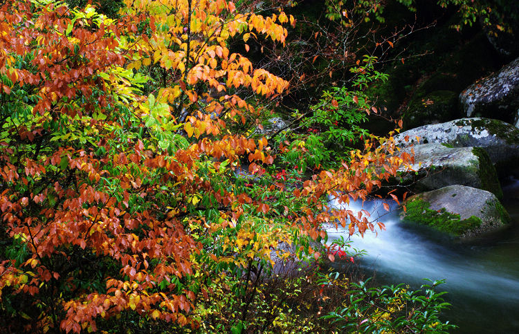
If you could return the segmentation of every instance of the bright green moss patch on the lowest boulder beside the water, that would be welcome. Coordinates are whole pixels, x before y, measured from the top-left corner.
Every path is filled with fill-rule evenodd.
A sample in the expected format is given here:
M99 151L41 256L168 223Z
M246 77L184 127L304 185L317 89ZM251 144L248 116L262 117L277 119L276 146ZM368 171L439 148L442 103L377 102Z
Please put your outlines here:
M428 225L440 232L453 236L462 236L465 232L479 228L481 219L471 216L461 220L459 214L452 214L442 208L439 211L430 210L430 203L417 198L406 203L406 215L403 221Z

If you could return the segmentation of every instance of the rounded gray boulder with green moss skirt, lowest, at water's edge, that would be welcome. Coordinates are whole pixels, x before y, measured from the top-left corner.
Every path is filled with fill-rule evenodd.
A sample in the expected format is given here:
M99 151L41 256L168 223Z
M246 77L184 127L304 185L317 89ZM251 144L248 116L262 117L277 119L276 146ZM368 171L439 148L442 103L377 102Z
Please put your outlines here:
M450 185L408 198L404 221L429 225L452 236L469 238L509 223L510 216L491 192Z

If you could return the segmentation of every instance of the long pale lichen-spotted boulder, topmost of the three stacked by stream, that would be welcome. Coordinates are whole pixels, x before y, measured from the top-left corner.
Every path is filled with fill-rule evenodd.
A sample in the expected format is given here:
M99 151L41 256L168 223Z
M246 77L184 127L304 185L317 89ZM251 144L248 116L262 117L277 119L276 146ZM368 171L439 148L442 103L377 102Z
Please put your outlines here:
M424 125L401 133L395 140L401 147L431 142L452 147L482 147L498 174L504 176L519 172L519 129L500 120L462 118Z

